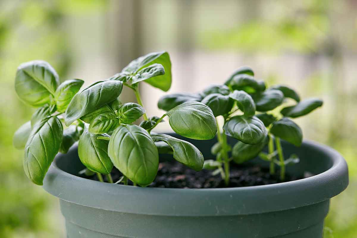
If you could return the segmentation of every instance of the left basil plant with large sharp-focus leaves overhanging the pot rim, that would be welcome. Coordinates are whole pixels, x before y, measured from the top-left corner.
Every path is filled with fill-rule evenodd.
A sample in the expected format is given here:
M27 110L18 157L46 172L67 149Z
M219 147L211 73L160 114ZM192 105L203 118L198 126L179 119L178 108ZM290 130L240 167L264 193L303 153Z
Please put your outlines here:
M191 143L165 134L151 133L164 117L179 135L196 140L215 137L217 126L211 108L200 100L170 107L161 117L147 117L139 82L163 91L171 86L171 62L167 52L151 53L130 62L120 73L83 89L84 81L62 83L50 64L31 61L21 64L16 73L15 90L20 100L36 107L31 120L14 135L14 146L24 149L23 166L27 177L42 185L58 152L66 153L78 141L78 155L86 174L110 176L115 166L123 174L121 183L147 186L154 181L160 153L199 171L202 153ZM134 90L137 102L122 103L126 86ZM140 117L144 119L135 125Z

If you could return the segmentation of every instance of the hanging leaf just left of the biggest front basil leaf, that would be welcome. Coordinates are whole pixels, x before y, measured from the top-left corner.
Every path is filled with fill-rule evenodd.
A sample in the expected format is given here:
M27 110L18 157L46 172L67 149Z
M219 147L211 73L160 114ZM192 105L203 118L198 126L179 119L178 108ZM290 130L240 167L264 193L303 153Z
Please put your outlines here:
M113 163L108 156L107 140L99 140L98 136L106 136L105 134L91 134L85 130L78 142L78 156L82 164L88 169L97 173L110 173L113 168Z

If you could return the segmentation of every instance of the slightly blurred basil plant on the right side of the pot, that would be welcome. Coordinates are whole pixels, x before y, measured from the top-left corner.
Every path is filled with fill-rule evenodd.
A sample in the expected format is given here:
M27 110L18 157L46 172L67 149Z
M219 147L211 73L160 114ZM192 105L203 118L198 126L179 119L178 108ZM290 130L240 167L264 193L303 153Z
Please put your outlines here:
M287 106L291 101L294 105ZM206 160L204 168L215 169L213 174L220 173L227 185L231 161L240 164L257 156L270 162L271 174L275 174L275 164L280 166L280 180L284 181L285 166L299 159L296 155L284 158L280 139L300 146L302 131L291 118L304 116L322 106L317 98L300 101L298 93L288 86L267 88L264 81L255 79L250 67L241 67L222 85L209 86L200 93L165 95L160 98L158 107L170 112L180 105L197 102L211 108L215 117L223 118L221 129L217 124L218 142L211 149L216 159ZM233 148L228 145L227 136L237 139ZM262 152L266 145L268 153Z

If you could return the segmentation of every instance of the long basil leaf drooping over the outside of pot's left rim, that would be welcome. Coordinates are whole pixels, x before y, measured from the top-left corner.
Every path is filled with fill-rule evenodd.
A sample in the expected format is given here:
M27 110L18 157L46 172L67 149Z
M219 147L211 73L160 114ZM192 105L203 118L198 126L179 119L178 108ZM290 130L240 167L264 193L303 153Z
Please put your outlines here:
M23 165L27 177L35 184L42 185L60 148L62 134L62 123L55 116L45 118L32 128L25 146Z

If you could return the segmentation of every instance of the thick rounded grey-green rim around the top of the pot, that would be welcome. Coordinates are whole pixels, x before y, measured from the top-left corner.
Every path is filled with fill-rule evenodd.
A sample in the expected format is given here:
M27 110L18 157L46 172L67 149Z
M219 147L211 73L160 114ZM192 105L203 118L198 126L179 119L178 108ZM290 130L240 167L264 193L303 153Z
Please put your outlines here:
M326 201L348 185L347 163L340 153L313 141L304 141L299 149L304 148L318 150L331 160L332 166L312 177L260 186L142 188L102 183L67 173L57 167L63 156L59 154L45 176L44 189L71 203L134 214L233 216L282 211ZM76 149L73 146L70 150Z

